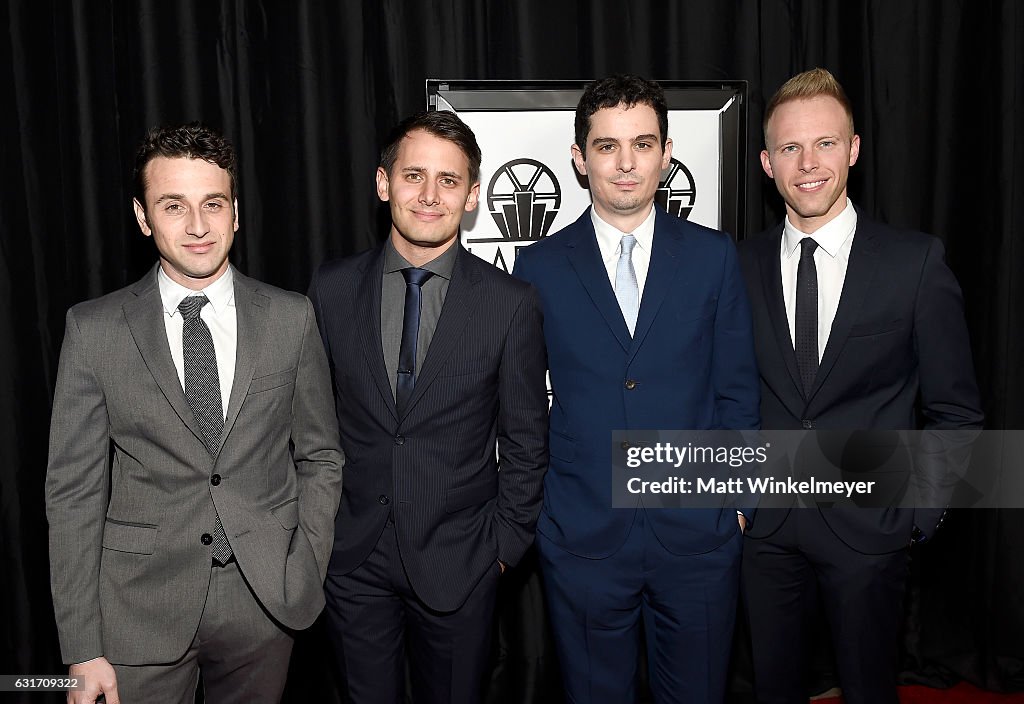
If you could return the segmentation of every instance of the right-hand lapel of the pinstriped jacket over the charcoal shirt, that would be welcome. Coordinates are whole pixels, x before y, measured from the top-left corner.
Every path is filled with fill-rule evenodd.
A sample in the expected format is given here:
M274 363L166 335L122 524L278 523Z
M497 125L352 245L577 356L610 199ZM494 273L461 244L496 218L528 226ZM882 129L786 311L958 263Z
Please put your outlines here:
M423 369L416 378L416 388L406 408L407 415L416 406L427 387L437 378L437 372L444 366L444 362L455 355L458 346L462 344L466 325L479 301L476 287L480 282L481 261L462 249L461 245L457 244L456 247L459 248L459 253L456 256L447 293L444 294L441 316L437 319L437 327L430 340L430 347L427 348Z

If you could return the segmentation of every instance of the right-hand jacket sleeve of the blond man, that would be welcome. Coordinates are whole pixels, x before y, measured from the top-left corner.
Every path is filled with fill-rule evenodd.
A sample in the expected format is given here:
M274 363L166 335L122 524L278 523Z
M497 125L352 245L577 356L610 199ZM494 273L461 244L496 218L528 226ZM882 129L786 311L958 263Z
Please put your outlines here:
M931 238L914 304L913 343L925 417L914 482L914 524L930 535L938 526L952 485L967 471L970 446L984 422L974 376L964 299L943 261L942 243Z

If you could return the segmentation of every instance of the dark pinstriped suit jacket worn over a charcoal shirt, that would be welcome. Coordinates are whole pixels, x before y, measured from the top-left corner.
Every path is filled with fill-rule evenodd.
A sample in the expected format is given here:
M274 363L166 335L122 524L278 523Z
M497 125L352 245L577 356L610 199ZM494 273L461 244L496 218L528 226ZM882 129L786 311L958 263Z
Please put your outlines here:
M453 611L534 539L548 460L540 306L530 287L460 248L399 416L381 348L383 266L382 247L329 262L309 293L346 455L330 569L355 569L393 512L417 596Z

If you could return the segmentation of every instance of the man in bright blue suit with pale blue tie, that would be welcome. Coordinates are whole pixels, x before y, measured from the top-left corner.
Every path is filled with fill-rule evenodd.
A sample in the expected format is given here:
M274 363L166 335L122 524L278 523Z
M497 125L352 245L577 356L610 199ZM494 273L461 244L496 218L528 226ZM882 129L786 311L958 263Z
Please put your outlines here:
M592 83L572 159L593 208L523 250L554 392L538 549L570 702L635 699L640 619L657 702L721 702L745 518L611 508L611 434L753 429L758 372L731 239L654 207L672 155L662 88Z

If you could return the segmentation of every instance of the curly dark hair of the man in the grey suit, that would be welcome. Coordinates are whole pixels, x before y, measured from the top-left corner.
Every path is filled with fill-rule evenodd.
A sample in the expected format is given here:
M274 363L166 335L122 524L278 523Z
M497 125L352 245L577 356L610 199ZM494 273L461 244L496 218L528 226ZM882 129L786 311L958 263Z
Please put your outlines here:
M145 167L157 157L202 159L219 166L230 178L230 197L236 195L237 158L231 142L220 132L200 122L175 127L155 127L135 152L135 197L145 208Z

